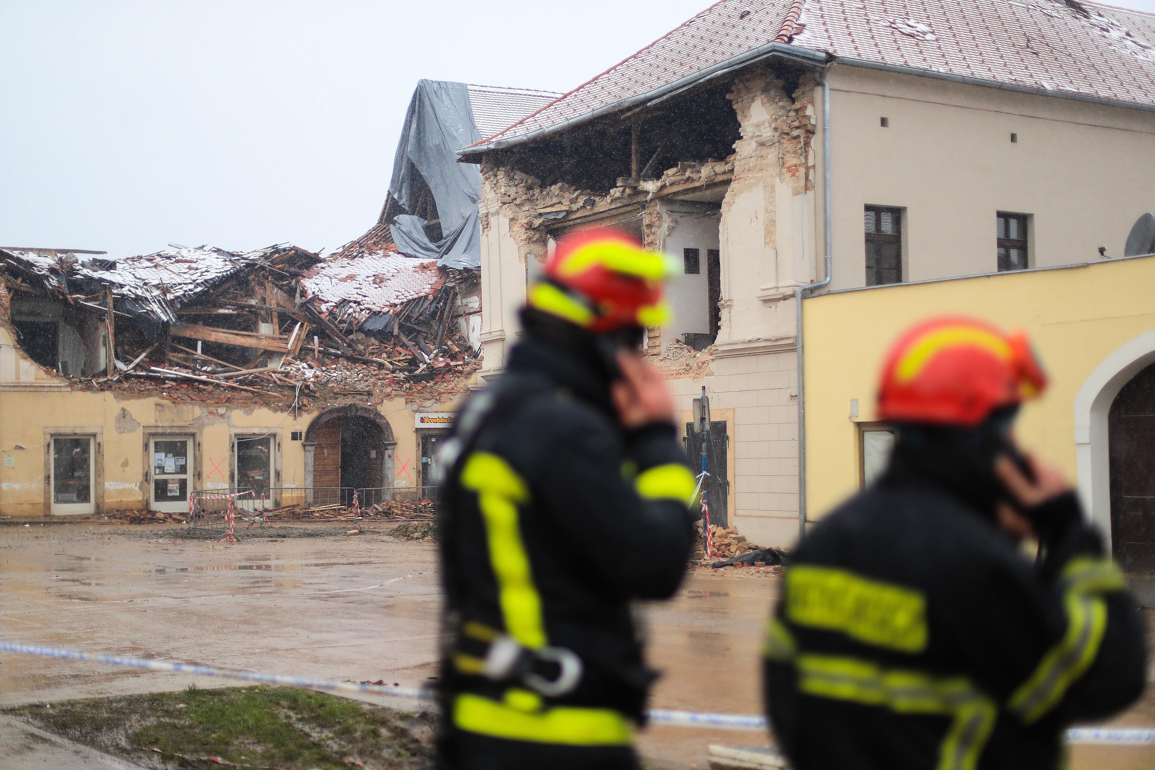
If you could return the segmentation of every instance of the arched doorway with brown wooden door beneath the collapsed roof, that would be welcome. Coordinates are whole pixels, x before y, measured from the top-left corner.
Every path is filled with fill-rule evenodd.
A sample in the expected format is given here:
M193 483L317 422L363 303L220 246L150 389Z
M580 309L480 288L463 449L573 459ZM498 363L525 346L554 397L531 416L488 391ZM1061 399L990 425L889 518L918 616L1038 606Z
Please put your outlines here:
M310 489L341 489L341 503L349 505L356 489L393 486L393 428L373 409L350 403L322 412L305 430L304 444Z

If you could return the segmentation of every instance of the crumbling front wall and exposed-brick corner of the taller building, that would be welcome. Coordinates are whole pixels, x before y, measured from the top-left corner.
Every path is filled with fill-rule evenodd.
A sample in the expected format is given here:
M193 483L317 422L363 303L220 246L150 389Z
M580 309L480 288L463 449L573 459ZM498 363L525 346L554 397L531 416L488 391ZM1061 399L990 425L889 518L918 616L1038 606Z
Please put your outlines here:
M718 339L708 365L694 368L698 376L670 385L679 412L692 408L705 384L711 407L725 415L733 459L730 521L751 540L772 546L797 538L793 297L799 284L818 277L815 83L804 75L791 92L785 89L768 67L742 74L730 95L742 129L735 155L717 164L679 163L638 188L597 195L562 183L545 187L491 158L482 164L483 308L485 328L494 334L485 347L485 371L504 367L506 346L516 334L516 309L524 302L527 264L544 259L551 223L597 221L602 212L601 221L609 223L640 213L646 244L662 247L669 219L660 207L663 194L678 179L696 178L705 186L709 178L732 173L721 207ZM498 271L502 277L494 277ZM494 295L495 287L504 294ZM662 342L651 333L649 350L661 351Z

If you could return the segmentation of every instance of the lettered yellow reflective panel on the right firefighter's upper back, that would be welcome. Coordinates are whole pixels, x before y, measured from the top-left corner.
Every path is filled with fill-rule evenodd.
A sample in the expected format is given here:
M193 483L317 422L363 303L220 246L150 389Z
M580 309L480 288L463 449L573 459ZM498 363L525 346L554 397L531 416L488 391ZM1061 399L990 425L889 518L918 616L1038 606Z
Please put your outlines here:
M880 647L926 647L926 598L906 586L852 572L799 564L787 570L787 616L799 625Z

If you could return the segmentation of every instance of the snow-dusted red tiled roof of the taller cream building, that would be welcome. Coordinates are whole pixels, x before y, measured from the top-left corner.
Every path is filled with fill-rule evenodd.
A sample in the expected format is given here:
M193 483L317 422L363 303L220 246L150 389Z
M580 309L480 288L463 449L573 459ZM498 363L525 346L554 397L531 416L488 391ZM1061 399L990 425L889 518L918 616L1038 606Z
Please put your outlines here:
M1082 0L722 0L459 155L669 96L755 55L1155 108L1155 14Z

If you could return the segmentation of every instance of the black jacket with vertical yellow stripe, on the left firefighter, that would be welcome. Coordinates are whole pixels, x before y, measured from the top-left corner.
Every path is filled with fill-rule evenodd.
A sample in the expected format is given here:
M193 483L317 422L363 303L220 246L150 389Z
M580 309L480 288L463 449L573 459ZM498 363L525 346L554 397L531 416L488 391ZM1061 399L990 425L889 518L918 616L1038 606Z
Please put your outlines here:
M454 637L445 706L457 731L626 746L626 719L642 715L654 675L629 601L666 598L681 582L694 477L672 424L618 427L609 379L596 372L524 341L483 393L489 403L461 412L459 440L468 443L447 477L440 526ZM478 415L470 440L461 434ZM547 697L486 679L486 645L502 634L527 649L573 651L581 681Z

